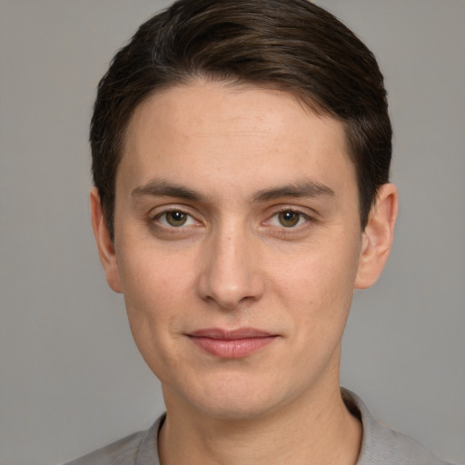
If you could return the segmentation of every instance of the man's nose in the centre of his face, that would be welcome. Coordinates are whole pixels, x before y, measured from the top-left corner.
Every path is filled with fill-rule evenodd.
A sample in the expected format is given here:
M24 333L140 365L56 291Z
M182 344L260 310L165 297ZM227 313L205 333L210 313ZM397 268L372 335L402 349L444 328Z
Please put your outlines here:
M203 250L198 291L205 301L224 310L258 301L264 282L259 272L257 244L243 231L213 234Z

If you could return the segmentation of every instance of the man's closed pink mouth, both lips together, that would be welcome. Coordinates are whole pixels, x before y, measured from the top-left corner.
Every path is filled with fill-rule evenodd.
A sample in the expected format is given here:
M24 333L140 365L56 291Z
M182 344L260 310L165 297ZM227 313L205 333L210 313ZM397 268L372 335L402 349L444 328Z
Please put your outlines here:
M259 351L279 336L254 328L225 331L208 328L193 331L187 336L201 350L222 359L240 359Z

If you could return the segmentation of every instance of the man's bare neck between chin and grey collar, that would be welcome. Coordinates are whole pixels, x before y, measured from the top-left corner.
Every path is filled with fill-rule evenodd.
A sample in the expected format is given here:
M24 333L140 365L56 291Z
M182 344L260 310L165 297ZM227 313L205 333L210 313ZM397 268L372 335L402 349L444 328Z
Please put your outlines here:
M159 455L162 465L354 465L360 446L361 423L345 407L338 384L247 420L170 411L167 402Z

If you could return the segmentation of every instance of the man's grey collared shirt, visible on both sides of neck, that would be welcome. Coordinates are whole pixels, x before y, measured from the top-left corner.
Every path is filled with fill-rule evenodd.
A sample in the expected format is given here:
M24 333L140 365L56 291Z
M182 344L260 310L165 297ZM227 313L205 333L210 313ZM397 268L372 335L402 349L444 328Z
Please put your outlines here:
M341 392L347 408L363 425L357 465L448 465L416 440L382 426L353 392ZM163 420L164 415L149 430L136 432L66 465L160 465L158 431Z

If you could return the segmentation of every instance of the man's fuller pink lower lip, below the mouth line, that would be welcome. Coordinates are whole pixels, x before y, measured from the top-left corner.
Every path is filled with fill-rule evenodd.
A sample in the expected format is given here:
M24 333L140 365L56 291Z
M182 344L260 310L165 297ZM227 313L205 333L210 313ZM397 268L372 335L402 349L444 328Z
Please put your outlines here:
M222 359L240 359L246 357L271 344L275 339L276 336L232 340L191 336L191 340L197 347Z

